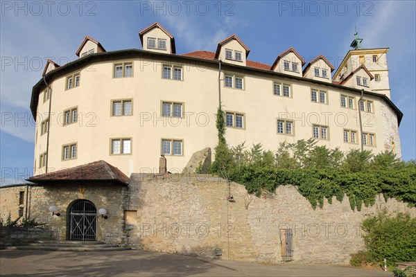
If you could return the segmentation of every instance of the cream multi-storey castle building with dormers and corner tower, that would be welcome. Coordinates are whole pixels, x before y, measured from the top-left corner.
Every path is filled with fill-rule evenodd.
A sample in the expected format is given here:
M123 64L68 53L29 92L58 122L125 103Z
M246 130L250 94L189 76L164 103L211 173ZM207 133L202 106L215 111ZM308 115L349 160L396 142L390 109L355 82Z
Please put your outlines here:
M218 105L229 145L277 150L314 138L332 149L401 156L403 114L390 100L388 48L361 48L356 37L335 69L324 55L306 64L294 48L272 65L253 62L236 35L215 53L177 54L158 23L139 39L142 50L105 51L87 36L77 60L47 62L31 96L35 175L99 160L128 176L155 172L160 154L169 171L182 172L193 153L218 143Z

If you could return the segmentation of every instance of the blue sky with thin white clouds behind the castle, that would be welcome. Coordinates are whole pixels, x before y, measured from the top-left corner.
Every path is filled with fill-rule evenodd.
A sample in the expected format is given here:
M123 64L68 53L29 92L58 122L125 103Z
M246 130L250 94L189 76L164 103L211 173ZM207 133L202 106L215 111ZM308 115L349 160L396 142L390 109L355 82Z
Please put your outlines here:
M338 66L354 25L364 48L389 47L392 101L404 113L404 160L416 157L415 1L1 1L1 131L3 184L33 169L35 127L29 103L44 64L76 60L85 35L107 51L141 48L138 32L158 21L175 36L178 54L215 51L235 33L249 60L272 64L293 46L306 61L323 54Z

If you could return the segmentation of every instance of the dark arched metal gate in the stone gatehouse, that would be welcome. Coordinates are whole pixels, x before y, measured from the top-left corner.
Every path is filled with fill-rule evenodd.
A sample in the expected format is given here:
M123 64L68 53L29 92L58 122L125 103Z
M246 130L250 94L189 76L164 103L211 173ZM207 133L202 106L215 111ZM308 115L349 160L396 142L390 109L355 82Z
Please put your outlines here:
M70 210L71 231L69 240L96 240L97 209L88 200L80 200Z

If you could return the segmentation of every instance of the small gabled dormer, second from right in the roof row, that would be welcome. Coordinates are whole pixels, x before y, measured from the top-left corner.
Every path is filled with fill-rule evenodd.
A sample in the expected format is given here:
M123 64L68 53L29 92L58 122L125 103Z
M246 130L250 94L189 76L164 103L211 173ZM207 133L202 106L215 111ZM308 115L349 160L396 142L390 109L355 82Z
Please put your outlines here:
M315 57L303 70L303 77L322 82L332 82L331 72L335 68L323 55Z

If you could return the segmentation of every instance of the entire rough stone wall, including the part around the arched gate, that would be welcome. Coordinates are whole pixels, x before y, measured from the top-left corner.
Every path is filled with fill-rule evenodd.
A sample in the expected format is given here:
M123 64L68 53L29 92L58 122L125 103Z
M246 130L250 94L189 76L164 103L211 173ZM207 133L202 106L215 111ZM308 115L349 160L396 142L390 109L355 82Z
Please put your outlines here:
M82 193L83 189L85 191ZM228 191L235 202L229 202ZM4 216L16 208L15 188L0 188ZM311 204L294 186L279 186L275 193L248 195L244 186L228 184L210 175L133 174L128 188L103 184L51 184L29 190L28 214L50 227L53 238L67 239L67 208L76 199L105 208L98 217L97 240L125 244L146 251L162 251L248 262L347 264L350 254L363 249L360 223L381 208L416 217L416 208L380 195L374 206L352 211L343 202L325 200L322 209ZM60 208L52 216L49 206ZM282 256L293 233L293 256ZM222 255L216 256L218 249Z

